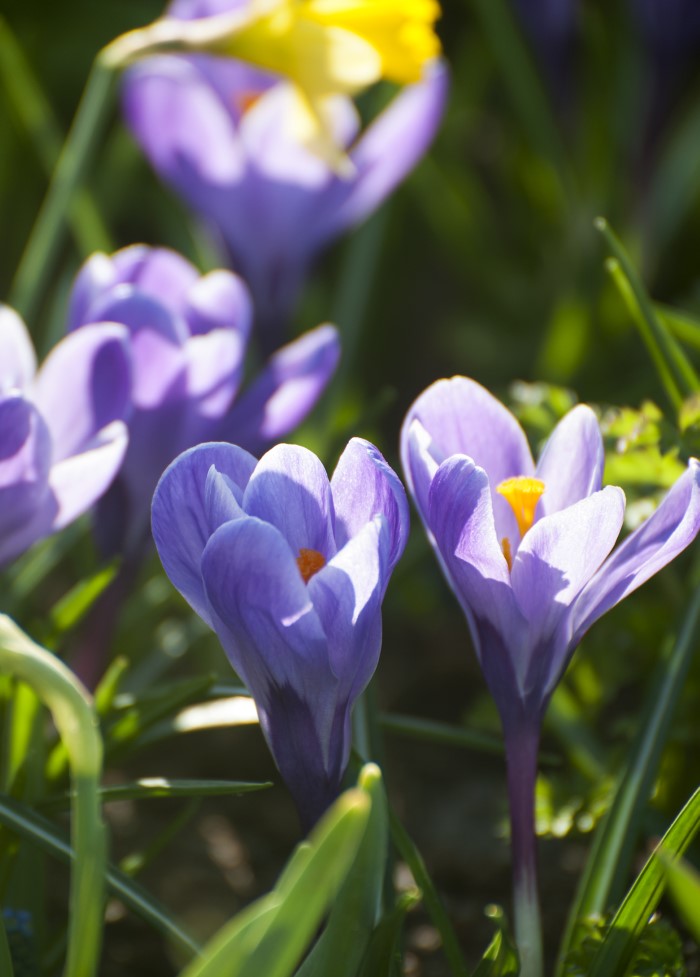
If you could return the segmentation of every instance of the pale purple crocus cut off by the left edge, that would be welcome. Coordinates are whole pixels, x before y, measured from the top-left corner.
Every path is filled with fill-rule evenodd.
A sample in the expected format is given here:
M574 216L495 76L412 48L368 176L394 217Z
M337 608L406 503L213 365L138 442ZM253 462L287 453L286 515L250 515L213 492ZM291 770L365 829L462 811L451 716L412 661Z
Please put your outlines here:
M0 565L82 515L127 446L123 326L63 339L39 372L24 323L0 306Z

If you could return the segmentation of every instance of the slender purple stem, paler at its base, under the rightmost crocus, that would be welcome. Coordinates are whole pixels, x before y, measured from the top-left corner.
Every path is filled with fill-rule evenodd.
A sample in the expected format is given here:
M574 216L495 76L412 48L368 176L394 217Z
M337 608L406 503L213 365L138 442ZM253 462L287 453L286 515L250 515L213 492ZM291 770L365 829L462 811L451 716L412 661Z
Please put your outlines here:
M537 893L535 781L538 726L506 731L508 798L513 858L513 913L520 953L520 977L542 977L542 920Z

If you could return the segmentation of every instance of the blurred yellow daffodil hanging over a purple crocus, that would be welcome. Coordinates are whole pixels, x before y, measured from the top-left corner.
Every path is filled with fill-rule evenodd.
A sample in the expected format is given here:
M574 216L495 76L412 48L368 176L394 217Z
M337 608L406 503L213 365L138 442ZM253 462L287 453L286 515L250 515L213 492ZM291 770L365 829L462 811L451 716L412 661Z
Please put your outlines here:
M165 18L117 39L110 53L125 64L174 48L240 59L285 78L288 134L348 173L333 100L382 79L420 81L440 53L439 15L437 0L175 0Z

